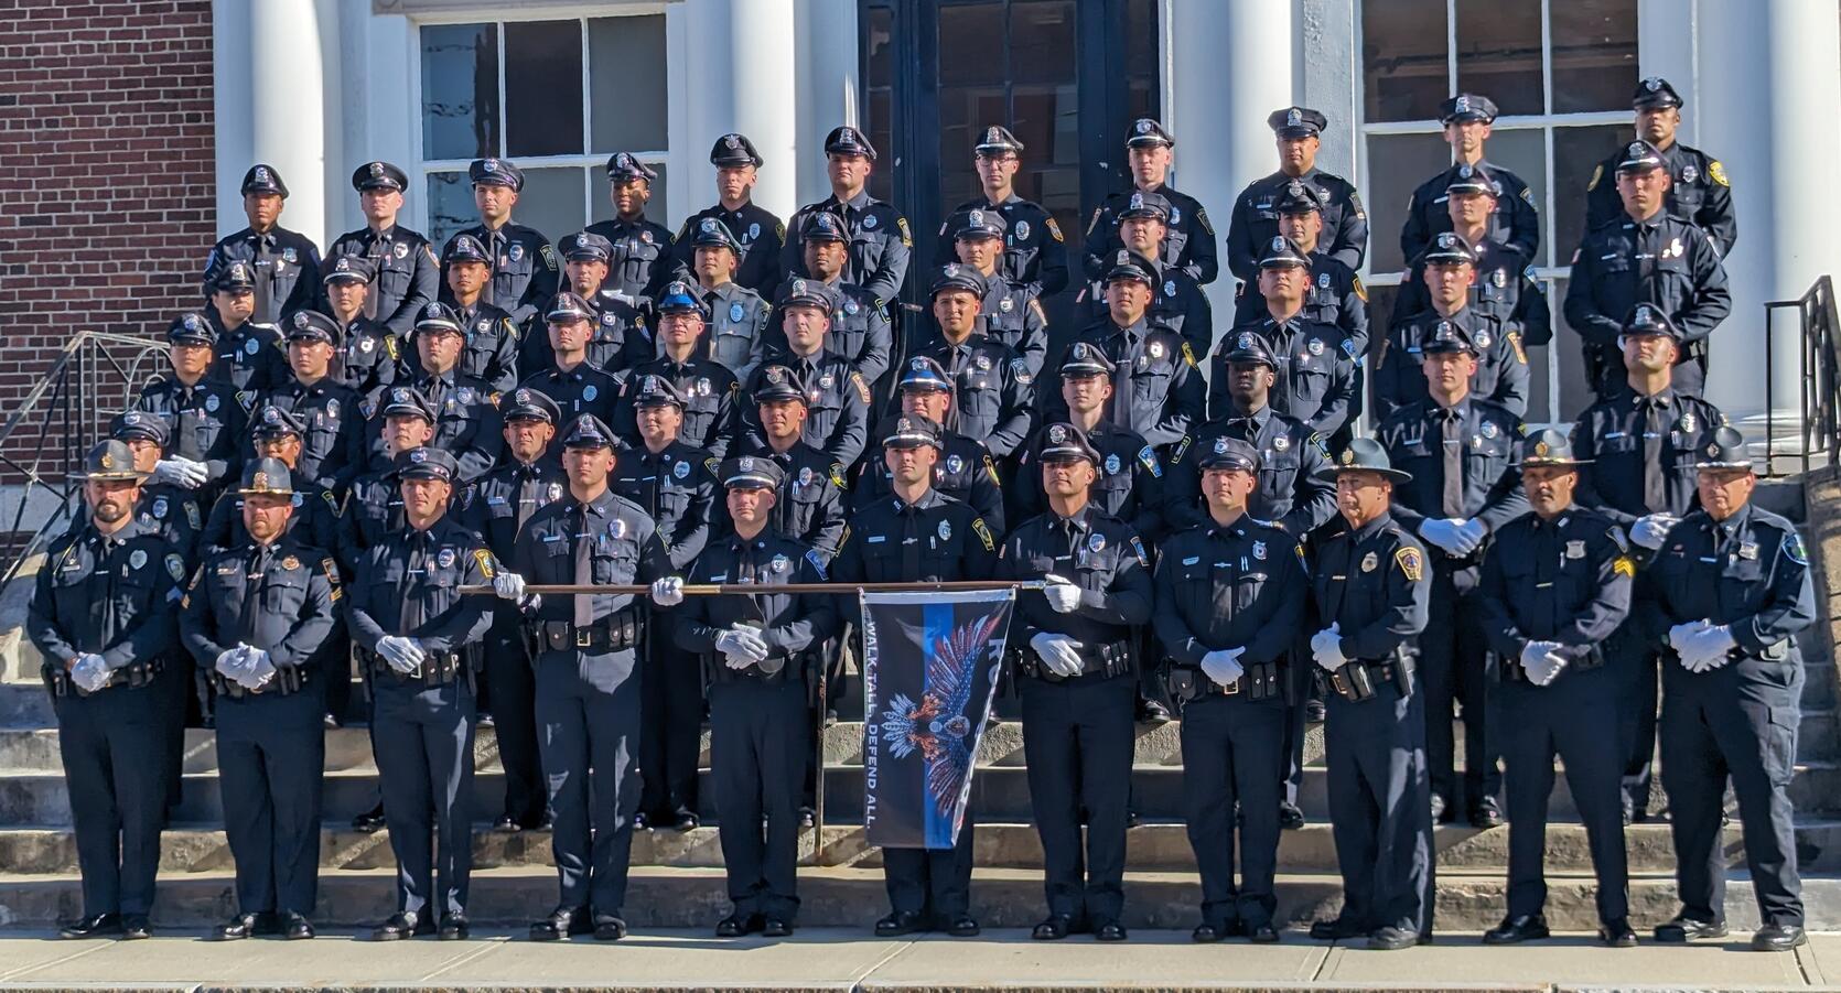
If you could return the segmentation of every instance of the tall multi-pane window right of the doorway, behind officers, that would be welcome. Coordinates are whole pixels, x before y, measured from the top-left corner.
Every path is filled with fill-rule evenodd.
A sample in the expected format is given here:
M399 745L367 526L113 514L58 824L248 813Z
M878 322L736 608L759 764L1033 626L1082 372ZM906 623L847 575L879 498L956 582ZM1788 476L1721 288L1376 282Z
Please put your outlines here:
M1362 0L1362 169L1373 320L1401 274L1399 230L1414 188L1451 166L1438 105L1471 92L1497 103L1484 156L1528 182L1541 211L1535 274L1554 344L1534 349L1530 423L1587 403L1580 338L1565 327L1567 267L1585 228L1592 166L1635 136L1637 0Z

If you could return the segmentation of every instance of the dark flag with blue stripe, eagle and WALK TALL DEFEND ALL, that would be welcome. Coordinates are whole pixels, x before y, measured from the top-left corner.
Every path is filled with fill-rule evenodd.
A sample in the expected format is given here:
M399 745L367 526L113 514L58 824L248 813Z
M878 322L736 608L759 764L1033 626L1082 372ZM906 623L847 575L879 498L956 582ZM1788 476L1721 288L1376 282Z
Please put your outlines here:
M972 796L1016 590L858 596L869 844L952 848Z

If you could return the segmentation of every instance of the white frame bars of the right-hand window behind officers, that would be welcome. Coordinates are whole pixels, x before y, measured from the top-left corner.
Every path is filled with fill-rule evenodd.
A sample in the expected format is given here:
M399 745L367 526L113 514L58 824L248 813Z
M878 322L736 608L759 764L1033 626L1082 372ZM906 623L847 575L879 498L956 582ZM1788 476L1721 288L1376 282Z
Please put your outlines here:
M1357 4L1360 4L1360 0L1357 0ZM1552 17L1552 6L1554 6L1554 0L1541 0L1541 108L1545 112L1543 114L1515 114L1515 116L1497 118L1491 123L1491 134L1497 134L1497 132L1502 132L1502 131L1539 131L1543 134L1543 138L1545 138L1545 162L1543 162L1543 167L1546 169L1546 177L1545 177L1546 197L1545 197L1545 202L1539 204L1539 213L1541 213L1541 248L1543 248L1543 252L1548 257L1554 257L1554 259L1570 259L1572 257L1572 246L1567 246L1565 250L1561 250L1556 245L1556 241L1554 241L1554 237L1557 234L1557 217L1559 217L1556 213L1556 206L1559 206L1563 202L1569 210L1580 210L1580 211L1583 211L1585 210L1585 202L1583 202L1585 195L1583 195L1583 191L1580 191L1576 197L1567 197L1565 200L1557 199L1557 191L1554 189L1554 132L1557 129L1563 129L1563 127L1631 125L1633 118L1631 118L1629 110L1585 110L1585 112L1569 112L1569 114L1556 114L1554 112L1554 17ZM1640 44L1640 39L1642 39L1642 31L1640 31L1640 28L1642 28L1642 24L1640 24L1642 6L1640 4L1637 7L1637 17L1638 17L1638 26L1637 26L1638 33L1637 33L1637 39L1638 39L1638 44ZM1355 143L1355 162L1357 162L1359 189L1372 189L1372 186L1370 186L1370 175L1368 175L1368 158L1370 158L1368 156L1368 138L1370 136L1388 136L1388 134L1442 134L1445 131L1445 125L1440 123L1438 120L1370 121L1366 118L1366 108L1368 108L1368 92L1366 92L1366 88L1368 88L1368 66L1360 64L1360 51L1362 51L1362 15L1360 15L1360 7L1357 6L1357 13L1355 13L1355 53L1357 53L1357 66L1355 66L1355 72L1351 74L1353 75L1351 85L1355 88L1355 112L1357 112L1357 116L1360 116L1360 123L1357 125L1357 134L1360 134L1360 140ZM1445 90L1451 92L1451 94L1458 92L1458 0L1445 0ZM1453 162L1456 162L1456 153L1453 153L1451 158L1453 158ZM1370 235L1368 235L1370 241L1373 241L1375 234L1377 232L1370 232ZM1392 232L1381 232L1381 234L1383 234L1383 237L1392 237ZM1556 292L1557 292L1557 285L1559 285L1557 281L1563 280L1570 272L1572 267L1567 265L1565 261L1561 261L1559 265L1539 265L1541 261L1545 261L1545 259L1537 259L1535 261L1534 274L1535 274L1535 280L1539 280L1541 285L1543 285L1543 289L1546 291L1548 303L1552 305L1552 311L1554 311L1554 344L1550 344L1550 346L1546 346L1546 348L1541 349L1545 353L1545 359L1546 359L1546 410L1548 412L1557 412L1559 410L1559 351L1557 351L1557 344L1559 344L1559 325L1563 322L1563 316L1559 314L1559 309L1565 305L1565 300L1561 300ZM1372 287L1397 287L1405 278L1407 278L1407 270L1401 270L1401 272L1370 272L1368 276L1362 276L1362 280L1368 285L1372 285ZM1383 329L1379 329L1375 333L1386 335L1386 329L1383 327ZM1534 428L1534 427L1567 427L1570 421L1548 421L1548 423L1543 423L1543 425L1530 425L1530 428Z

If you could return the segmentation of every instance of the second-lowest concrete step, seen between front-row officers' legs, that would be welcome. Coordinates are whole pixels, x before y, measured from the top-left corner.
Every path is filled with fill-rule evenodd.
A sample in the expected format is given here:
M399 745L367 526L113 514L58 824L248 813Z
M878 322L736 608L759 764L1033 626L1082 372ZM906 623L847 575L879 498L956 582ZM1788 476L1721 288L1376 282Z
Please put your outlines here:
M1841 835L1837 822L1799 826L1799 848L1824 851ZM1810 835L1806 844L1800 842ZM1738 828L1729 831L1738 844ZM814 862L814 833L801 833L805 864L876 868L882 850L867 844L863 828L830 824L825 850ZM1438 864L1449 870L1488 870L1508 864L1508 829L1440 826ZM1140 872L1195 872L1195 850L1182 824L1140 824L1125 833L1127 864ZM1626 829L1631 872L1670 873L1675 868L1673 842L1666 824L1635 824ZM1834 855L1828 862L1837 861ZM639 831L633 835L635 866L720 868L722 848L716 828L694 831ZM342 824L326 824L320 833L324 870L372 870L392 866L388 831L372 835ZM549 866L549 831L499 833L486 824L475 828L473 864ZM1003 822L978 826L976 864L990 868L1040 868L1042 842L1033 824ZM1337 846L1329 824L1305 824L1279 839L1279 864L1291 872L1337 872ZM77 872L75 839L70 828L0 829L0 866L20 873ZM162 835L160 870L168 873L228 872L234 866L225 833L208 824L175 826ZM1550 872L1591 872L1585 829L1578 824L1548 824L1546 866ZM1813 868L1813 866L1806 866Z

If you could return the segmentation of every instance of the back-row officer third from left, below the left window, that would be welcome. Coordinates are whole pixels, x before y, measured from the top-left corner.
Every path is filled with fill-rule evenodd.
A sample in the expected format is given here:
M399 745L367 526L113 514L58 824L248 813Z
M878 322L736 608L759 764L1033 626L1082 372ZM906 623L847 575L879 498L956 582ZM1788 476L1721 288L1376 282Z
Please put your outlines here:
M475 158L466 175L473 184L479 224L447 239L447 246L451 248L460 235L466 235L484 248L484 263L492 278L482 287L482 302L510 314L512 327L525 329L556 296L556 250L550 248L550 239L543 237L543 232L512 221L517 197L525 191L523 169L503 158ZM451 287L449 265L453 259L444 248L442 281ZM510 388L510 382L504 388Z

